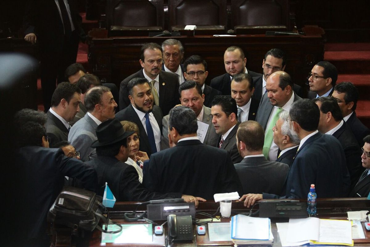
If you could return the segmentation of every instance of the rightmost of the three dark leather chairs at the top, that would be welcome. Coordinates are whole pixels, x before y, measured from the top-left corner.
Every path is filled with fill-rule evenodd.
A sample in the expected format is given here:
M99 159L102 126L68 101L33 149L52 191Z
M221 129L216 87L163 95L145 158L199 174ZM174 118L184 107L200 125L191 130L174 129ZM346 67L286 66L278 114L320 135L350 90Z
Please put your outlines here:
M231 0L232 24L236 34L287 31L287 0Z

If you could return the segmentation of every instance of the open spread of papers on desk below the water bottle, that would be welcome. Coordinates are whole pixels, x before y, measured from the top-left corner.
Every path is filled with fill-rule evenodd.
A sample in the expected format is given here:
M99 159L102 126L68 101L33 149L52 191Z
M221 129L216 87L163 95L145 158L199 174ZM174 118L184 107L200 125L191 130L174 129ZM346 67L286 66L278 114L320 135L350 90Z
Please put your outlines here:
M351 221L319 218L290 219L276 223L283 247L300 245L353 246Z

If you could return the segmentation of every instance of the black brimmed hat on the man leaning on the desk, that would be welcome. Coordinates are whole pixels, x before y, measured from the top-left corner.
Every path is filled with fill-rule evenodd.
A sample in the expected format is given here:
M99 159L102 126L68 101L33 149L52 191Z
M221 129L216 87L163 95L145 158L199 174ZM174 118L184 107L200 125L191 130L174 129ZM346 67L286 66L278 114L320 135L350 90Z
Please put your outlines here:
M117 143L134 134L135 131L125 131L118 119L109 119L102 122L96 128L98 140L91 144L91 147L101 147Z

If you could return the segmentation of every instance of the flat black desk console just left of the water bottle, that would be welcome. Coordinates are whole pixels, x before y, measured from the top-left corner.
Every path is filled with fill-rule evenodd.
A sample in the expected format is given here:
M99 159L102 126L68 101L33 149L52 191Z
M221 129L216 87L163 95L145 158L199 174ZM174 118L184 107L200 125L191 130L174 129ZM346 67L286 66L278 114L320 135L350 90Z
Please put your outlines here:
M263 218L306 218L307 203L298 200L261 201L259 217Z

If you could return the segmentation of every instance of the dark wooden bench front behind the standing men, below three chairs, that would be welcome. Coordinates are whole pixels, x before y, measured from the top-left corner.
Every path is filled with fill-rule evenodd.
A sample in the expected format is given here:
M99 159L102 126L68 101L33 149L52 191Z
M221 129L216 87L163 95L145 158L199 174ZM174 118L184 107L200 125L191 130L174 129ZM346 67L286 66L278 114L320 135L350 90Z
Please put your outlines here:
M111 37L108 39L90 39L88 59L92 73L107 82L120 82L135 73L139 64L142 45L154 42L161 44L170 37ZM306 36L265 36L238 35L236 37L173 37L180 40L185 47L184 59L199 55L208 64L209 84L212 78L225 73L223 53L229 46L240 46L247 58L247 68L262 73L262 60L265 53L272 48L280 48L287 53L285 71L300 86L305 83L314 64L323 60L324 43L322 37Z

